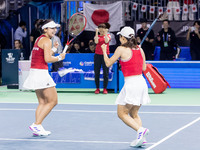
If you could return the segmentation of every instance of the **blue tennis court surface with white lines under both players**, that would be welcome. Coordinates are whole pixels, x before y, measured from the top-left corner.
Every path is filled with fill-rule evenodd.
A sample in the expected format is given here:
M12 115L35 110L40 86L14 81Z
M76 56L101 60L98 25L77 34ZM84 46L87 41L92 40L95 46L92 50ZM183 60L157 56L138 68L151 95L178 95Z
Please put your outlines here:
M117 117L115 105L59 104L43 122L48 137L34 137L37 104L0 103L0 150L199 150L200 106L143 106L148 144L132 148L136 132Z

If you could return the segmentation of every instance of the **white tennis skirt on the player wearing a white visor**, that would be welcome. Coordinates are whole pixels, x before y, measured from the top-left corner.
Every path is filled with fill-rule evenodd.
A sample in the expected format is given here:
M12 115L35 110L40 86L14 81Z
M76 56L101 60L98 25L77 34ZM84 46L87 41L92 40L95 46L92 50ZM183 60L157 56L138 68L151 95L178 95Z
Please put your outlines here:
M45 89L56 86L47 69L30 69L23 87L25 89Z

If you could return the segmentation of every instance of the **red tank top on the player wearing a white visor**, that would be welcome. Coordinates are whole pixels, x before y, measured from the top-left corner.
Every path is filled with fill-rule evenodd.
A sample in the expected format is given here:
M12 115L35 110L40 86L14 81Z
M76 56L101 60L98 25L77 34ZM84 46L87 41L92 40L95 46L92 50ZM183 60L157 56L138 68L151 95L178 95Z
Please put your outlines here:
M37 38L32 50L31 68L33 69L48 69L48 65L44 60L44 49L38 46L38 42L42 37L45 37L45 35Z

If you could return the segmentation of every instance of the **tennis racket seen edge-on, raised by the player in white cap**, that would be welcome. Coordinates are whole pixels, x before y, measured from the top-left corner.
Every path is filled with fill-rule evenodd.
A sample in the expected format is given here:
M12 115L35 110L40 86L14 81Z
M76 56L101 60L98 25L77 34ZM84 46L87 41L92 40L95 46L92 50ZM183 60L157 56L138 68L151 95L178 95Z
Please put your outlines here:
M158 17L153 21L153 23L151 24L151 26L149 27L147 33L145 34L145 36L143 37L141 43L140 43L140 46L142 46L144 40L147 38L147 36L149 35L150 31L152 30L153 26L155 25L155 23L158 21L158 20L165 20L167 19L168 16L167 16L167 11L165 11L164 13L162 14L159 14Z

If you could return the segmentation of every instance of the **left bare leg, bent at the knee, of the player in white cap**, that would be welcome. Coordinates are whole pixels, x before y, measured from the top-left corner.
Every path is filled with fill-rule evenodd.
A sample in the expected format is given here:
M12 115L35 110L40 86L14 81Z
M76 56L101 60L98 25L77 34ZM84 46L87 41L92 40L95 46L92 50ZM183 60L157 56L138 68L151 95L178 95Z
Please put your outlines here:
M133 105L118 105L117 114L118 117L129 127L137 131L141 126L131 117L129 116L130 110L133 108ZM140 107L140 106L138 106Z

